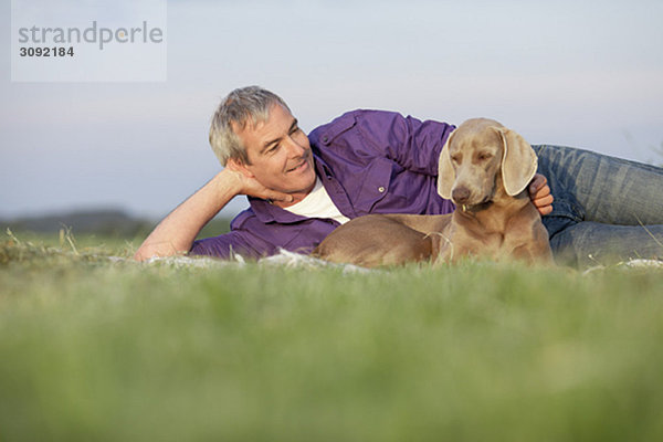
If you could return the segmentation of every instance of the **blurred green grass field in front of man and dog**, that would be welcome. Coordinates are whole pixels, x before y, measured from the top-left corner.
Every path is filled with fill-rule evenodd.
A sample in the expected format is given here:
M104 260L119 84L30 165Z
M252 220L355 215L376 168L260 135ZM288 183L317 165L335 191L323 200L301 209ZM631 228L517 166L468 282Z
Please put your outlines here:
M135 245L0 241L0 441L663 440L661 271L106 257Z

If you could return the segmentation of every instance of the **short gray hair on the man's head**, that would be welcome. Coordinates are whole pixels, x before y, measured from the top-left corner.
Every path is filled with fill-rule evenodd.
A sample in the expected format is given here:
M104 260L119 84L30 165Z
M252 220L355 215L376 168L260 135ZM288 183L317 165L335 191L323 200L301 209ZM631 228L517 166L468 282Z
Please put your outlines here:
M230 158L249 165L246 148L233 130L233 125L244 129L249 120L253 125L264 123L270 117L270 108L281 105L290 112L290 107L276 94L260 86L248 86L234 90L217 108L210 127L210 146L222 166Z

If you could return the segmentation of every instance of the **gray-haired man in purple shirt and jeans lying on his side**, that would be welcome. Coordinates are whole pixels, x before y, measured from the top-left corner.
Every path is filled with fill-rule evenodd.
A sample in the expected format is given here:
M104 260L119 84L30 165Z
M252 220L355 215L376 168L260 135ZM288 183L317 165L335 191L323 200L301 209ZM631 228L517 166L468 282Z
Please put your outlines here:
M438 157L454 126L354 110L308 136L285 102L239 88L214 114L210 144L224 168L149 234L136 260L175 254L308 253L335 228L368 213L443 214ZM529 194L558 261L570 265L663 255L663 169L558 146L534 146ZM231 231L194 241L235 196L251 208ZM552 196L555 204L552 206Z

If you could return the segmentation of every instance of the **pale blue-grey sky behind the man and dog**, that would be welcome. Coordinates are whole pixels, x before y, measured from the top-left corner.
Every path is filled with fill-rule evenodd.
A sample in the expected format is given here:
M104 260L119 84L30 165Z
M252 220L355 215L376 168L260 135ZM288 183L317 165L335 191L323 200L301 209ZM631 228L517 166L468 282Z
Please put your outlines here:
M0 219L162 218L220 170L211 116L253 84L306 131L355 108L482 116L530 144L663 162L660 0L170 0L166 75L139 82L12 82L10 0L0 17Z

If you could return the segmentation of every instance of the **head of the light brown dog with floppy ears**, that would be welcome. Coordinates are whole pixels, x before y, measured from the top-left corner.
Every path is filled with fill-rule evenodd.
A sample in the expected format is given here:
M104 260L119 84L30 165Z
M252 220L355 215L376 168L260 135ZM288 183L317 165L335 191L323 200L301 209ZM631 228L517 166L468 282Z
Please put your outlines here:
M440 154L438 193L456 206L493 201L503 189L520 193L537 169L534 149L493 119L473 118L459 126Z

